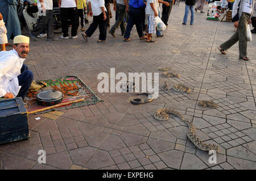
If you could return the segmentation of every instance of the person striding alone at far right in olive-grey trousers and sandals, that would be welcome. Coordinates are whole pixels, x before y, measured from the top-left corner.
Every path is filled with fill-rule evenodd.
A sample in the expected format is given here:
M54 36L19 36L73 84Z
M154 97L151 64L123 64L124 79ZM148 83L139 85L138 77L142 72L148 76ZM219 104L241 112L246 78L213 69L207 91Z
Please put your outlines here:
M249 61L247 57L247 24L251 22L255 0L235 0L232 10L232 20L234 27L237 28L236 33L229 40L225 41L218 47L222 54L226 54L226 50L239 41L239 58Z

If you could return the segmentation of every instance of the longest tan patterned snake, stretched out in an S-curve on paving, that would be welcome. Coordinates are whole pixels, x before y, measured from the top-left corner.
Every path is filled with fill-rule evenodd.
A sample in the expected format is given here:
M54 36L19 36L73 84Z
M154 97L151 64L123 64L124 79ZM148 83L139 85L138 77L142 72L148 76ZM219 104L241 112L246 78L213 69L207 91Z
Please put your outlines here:
M196 132L195 126L192 123L190 123L189 121L187 121L185 119L185 117L178 111L173 110L171 108L161 108L154 113L154 117L157 120L166 121L166 120L168 120L168 117L169 117L167 113L176 115L181 119L181 121L185 121L185 123L188 125L187 136L188 136L189 140L191 140L197 148L199 148L201 150L205 150L205 151L210 151L210 150L215 150L217 152L220 151L220 148L218 148L217 145L203 143L200 140L200 138L197 137L195 134L195 132Z

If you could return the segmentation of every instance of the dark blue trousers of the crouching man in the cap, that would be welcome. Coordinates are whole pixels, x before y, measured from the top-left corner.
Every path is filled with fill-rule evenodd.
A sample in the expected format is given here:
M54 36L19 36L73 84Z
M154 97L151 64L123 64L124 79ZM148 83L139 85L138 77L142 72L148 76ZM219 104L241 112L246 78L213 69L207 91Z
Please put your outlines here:
M22 87L20 87L19 93L16 97L22 97L22 99L24 100L33 79L34 79L34 75L32 71L28 70L28 67L26 64L23 64L22 68L20 69L20 74L18 75L19 86L22 86Z

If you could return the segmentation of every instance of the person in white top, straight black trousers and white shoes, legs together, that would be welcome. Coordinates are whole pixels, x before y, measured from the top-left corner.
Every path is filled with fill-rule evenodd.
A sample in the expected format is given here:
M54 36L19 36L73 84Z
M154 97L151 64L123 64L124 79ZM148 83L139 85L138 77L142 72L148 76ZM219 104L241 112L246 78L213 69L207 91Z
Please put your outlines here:
M61 28L63 35L61 39L68 39L68 19L71 19L72 39L77 39L77 0L59 0L59 7L61 11Z

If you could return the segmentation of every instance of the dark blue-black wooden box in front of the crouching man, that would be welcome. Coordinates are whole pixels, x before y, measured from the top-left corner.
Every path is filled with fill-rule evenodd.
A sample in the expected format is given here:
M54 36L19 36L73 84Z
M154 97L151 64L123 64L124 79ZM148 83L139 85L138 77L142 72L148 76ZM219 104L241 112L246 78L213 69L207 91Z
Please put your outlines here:
M27 110L22 98L0 100L0 144L30 139Z

